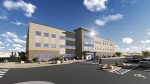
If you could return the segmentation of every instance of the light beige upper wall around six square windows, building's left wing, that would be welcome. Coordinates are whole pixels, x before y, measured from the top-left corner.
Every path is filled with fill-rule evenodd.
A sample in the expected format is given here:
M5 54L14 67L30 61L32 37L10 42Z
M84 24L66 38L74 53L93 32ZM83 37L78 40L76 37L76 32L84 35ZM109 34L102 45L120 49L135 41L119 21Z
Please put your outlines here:
M41 36L36 36L36 31L41 32ZM55 29L52 27L48 26L43 26L40 24L35 24L35 23L29 23L29 50L52 50L52 51L59 51L59 46L60 45L60 33L59 29ZM48 42L49 42L49 48L44 48L44 32L49 33L48 37ZM56 34L56 38L52 38L51 35ZM41 47L36 47L35 42L40 40ZM51 48L51 44L56 43L56 48Z

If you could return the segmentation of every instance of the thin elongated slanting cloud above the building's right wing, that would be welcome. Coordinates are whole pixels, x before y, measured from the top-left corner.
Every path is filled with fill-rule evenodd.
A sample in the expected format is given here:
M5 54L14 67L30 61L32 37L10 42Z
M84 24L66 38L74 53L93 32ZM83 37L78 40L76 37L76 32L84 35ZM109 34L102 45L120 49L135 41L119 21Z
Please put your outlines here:
M117 21L123 18L122 14L109 15L107 17L103 17L101 19L95 20L95 24L98 26L104 26L106 23L110 21Z

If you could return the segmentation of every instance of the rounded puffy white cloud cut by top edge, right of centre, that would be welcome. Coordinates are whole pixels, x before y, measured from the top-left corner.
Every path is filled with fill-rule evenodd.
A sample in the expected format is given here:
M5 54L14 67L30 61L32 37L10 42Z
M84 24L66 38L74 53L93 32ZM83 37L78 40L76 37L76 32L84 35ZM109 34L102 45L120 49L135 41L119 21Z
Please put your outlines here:
M91 12L98 12L107 9L106 2L108 0L84 0L83 5Z

